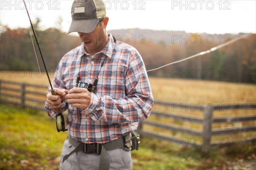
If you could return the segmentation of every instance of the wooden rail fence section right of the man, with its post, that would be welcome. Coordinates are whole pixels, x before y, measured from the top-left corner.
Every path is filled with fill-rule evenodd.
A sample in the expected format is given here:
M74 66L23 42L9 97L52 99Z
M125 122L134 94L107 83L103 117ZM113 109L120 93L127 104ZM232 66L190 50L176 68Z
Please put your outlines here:
M202 125L202 130L192 127L184 127L177 124L165 124L161 121L156 120L144 120L140 123L139 133L141 135L145 135L152 138L158 138L166 141L170 141L176 144L182 145L192 145L192 146L201 146L204 152L208 152L211 146L216 145L228 145L230 143L241 142L241 141L253 141L256 140L256 137L251 138L243 138L240 140L226 140L226 141L217 141L212 142L212 135L221 135L221 134L231 134L231 133L239 133L239 132L248 132L248 131L256 131L256 125L249 125L243 127L231 127L231 128L215 128L212 129L213 123L220 123L220 122L235 122L235 121L255 121L256 115L240 115L240 116L232 116L232 117L219 117L213 118L214 111L216 110L231 110L231 109L255 109L256 104L207 104L206 106L202 106L202 104L185 104L185 103L177 103L177 102L158 102L155 101L154 104L161 105L161 106L168 106L168 107L182 107L183 109L191 109L192 111L199 110L202 112L203 116L194 116L194 115L182 115L179 112L157 112L152 111L151 115L156 116L157 118L165 118L165 119L174 119L175 121L188 121L196 124ZM195 137L192 138L181 138L177 136L169 136L164 133L154 132L150 130L146 130L143 128L144 125L150 125L154 127L160 127L163 130L171 130L175 132L185 133L188 135L193 135L199 137L196 139Z

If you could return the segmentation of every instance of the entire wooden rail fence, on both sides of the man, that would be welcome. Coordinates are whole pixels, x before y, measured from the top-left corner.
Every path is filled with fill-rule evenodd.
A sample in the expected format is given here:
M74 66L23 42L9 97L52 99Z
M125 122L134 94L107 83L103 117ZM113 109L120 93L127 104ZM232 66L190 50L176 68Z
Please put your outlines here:
M47 87L46 87L47 88ZM24 106L29 105L32 106L31 102L34 102L34 106L36 104L44 104L44 100L46 98L46 93L43 86L38 86L34 84L26 84L26 83L17 83L11 81L0 81L0 101L6 103L15 103L22 104ZM152 116L157 118L164 119L172 119L174 121L188 121L194 124L199 124L202 126L201 130L198 128L186 127L177 124L164 123L162 121L151 120L150 118L140 122L140 126L138 128L138 132L143 136L148 136L151 138L157 138L161 140L170 141L172 143L177 144L186 144L186 145L196 145L200 146L204 152L208 152L211 146L221 145L222 142L211 142L212 135L221 135L221 134L232 134L232 133L240 133L240 132L249 132L256 131L256 115L255 109L256 104L207 104L206 106L202 104L187 104L187 103L177 103L177 102L160 102L155 101L154 105L159 105L162 107L170 107L170 108L183 108L189 109L193 111L202 112L202 116L195 115L184 115L180 112L163 112L153 110L151 112ZM234 110L234 109L247 109L251 110L252 114L244 114L239 116L230 116L230 117L213 117L213 114L216 110ZM150 116L151 117L151 116ZM231 128L212 128L213 123L231 123L237 121L254 121L253 125L249 126L241 126L241 127L231 127ZM179 132L183 134L188 134L192 136L196 136L201 141L197 142L197 139L186 138L184 141L183 138L177 136L170 136L164 133L160 133L155 130L147 130L144 126L151 126L156 128L161 128L164 130L171 130L173 132ZM230 144L233 142L239 141L252 141L256 140L256 137L242 138L240 140L233 141L225 141L225 144Z

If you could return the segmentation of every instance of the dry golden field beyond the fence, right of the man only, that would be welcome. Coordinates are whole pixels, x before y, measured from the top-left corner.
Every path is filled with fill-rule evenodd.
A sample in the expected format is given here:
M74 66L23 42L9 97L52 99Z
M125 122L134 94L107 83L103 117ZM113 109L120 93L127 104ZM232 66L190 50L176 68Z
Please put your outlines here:
M256 85L150 78L155 100L191 103L256 103Z

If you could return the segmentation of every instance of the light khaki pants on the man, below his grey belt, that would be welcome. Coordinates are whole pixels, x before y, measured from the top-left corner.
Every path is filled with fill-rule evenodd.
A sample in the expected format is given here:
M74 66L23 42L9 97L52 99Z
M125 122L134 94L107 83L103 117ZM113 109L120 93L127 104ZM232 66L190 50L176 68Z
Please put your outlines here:
M61 151L61 165L60 170L99 170L100 155L95 153L73 153L62 163L63 157L69 154L73 147L68 140L64 142ZM108 151L110 156L110 170L131 170L132 158L131 151L125 151L122 148Z

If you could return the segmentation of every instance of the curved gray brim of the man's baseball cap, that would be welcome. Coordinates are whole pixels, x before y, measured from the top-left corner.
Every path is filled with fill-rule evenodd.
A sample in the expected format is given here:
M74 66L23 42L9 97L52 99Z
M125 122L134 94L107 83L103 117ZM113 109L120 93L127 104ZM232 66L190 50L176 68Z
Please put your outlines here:
M98 18L92 20L72 20L70 29L68 30L67 34L71 32L93 32L97 26L98 21Z

